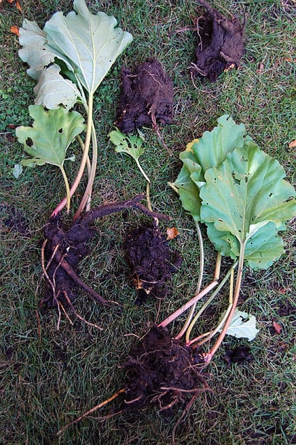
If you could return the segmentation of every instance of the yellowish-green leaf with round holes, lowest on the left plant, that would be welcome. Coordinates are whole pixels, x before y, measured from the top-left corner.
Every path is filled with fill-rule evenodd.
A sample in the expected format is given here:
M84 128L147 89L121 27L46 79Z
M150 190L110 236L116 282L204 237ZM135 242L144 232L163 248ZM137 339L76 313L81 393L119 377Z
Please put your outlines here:
M64 108L45 111L40 105L29 106L33 118L33 127L17 127L16 136L24 145L24 150L31 159L22 161L22 165L58 165L65 161L65 153L77 134L84 131L84 118L77 111L65 111Z

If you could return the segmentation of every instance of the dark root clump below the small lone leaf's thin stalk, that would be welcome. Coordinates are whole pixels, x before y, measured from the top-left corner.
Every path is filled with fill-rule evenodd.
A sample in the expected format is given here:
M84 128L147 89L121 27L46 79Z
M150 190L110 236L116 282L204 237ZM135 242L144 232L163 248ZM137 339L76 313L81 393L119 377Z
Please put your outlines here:
M177 272L182 259L178 252L171 251L169 241L156 223L138 227L128 234L125 252L138 291L136 304L143 304L149 295L165 298L167 282Z

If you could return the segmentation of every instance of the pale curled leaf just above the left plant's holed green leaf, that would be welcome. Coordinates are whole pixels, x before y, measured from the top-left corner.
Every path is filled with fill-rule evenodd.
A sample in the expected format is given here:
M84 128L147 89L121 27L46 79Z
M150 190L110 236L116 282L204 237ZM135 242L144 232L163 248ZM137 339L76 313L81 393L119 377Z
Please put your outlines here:
M36 94L35 103L48 109L59 108L63 105L66 109L72 108L81 94L75 85L68 79L63 79L59 65L50 65L40 73L38 83L34 88Z

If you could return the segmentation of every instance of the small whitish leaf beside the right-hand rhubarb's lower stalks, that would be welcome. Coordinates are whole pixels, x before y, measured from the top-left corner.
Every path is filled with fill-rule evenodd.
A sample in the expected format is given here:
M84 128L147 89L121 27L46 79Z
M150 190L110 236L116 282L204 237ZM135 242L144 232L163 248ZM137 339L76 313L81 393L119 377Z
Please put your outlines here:
M244 338L252 341L258 332L259 330L256 328L256 318L254 315L249 315L247 312L235 309L226 334L233 335L233 337L237 337L237 339Z

